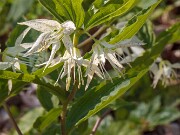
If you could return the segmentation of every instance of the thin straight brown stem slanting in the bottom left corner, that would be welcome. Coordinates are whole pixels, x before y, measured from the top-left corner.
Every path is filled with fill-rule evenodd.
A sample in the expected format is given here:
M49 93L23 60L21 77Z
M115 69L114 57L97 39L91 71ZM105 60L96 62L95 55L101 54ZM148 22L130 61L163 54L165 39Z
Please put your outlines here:
M6 112L8 113L9 118L10 118L10 120L11 120L14 128L16 129L17 133L18 133L19 135L23 135L22 132L21 132L21 130L19 129L19 127L18 127L18 125L17 125L17 123L16 123L16 121L15 121L15 119L14 119L14 117L13 117L13 115L12 115L12 113L11 113L11 111L10 111L10 109L9 109L9 107L8 107L8 105L7 105L6 102L3 104L3 107L4 107L4 109L6 110Z

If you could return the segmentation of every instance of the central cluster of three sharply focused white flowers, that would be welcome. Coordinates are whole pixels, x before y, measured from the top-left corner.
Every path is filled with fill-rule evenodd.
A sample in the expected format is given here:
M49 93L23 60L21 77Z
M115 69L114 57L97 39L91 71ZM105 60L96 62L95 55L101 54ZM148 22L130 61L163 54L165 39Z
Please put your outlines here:
M87 76L87 83L85 89L87 89L94 74L102 79L106 79L106 76L108 76L108 79L112 80L105 68L106 61L110 63L117 74L122 74L122 64L131 62L144 52L142 48L139 48L139 46L144 43L136 37L113 45L101 39L96 40L92 46L93 53L90 60L84 59L81 56L80 50L74 47L70 37L76 30L72 21L66 21L60 24L54 20L36 19L19 24L26 25L28 28L17 38L15 46L22 47L26 50L23 57L42 52L52 46L48 61L37 66L45 65L45 71L47 68L63 62L64 65L57 81L66 76L66 90L70 87L72 76L74 77L74 81L78 78L79 86L84 85L82 66L86 68L85 76ZM41 34L33 43L22 43L30 29L37 30L41 32ZM61 54L62 56L59 55L55 58L57 51L61 48L61 42L66 50ZM128 51L128 48L131 48L133 54ZM126 53L126 56L124 55L124 52ZM76 77L77 74L78 77Z

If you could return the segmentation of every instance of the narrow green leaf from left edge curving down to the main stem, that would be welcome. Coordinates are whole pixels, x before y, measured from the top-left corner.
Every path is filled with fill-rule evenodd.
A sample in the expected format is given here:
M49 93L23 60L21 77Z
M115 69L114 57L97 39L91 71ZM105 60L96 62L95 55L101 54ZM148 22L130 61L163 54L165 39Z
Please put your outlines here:
M3 71L0 70L0 78L1 79L12 79L12 80L20 80L23 82L33 82L42 86L49 88L49 92L56 95L61 101L66 99L67 93L59 86L54 86L49 83L45 83L41 81L36 75L23 74L23 73L15 73L11 71Z

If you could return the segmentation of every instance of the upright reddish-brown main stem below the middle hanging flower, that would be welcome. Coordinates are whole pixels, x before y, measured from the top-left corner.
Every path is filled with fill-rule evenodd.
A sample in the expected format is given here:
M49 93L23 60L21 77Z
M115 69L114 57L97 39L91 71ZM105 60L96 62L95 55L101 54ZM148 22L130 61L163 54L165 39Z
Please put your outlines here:
M74 85L73 90L69 94L67 100L63 103L63 110L61 113L61 133L62 133L62 135L67 135L67 133L66 133L66 115L67 115L68 104L70 101L73 100L73 98L76 94L76 91L77 91L77 87L76 87L76 85Z

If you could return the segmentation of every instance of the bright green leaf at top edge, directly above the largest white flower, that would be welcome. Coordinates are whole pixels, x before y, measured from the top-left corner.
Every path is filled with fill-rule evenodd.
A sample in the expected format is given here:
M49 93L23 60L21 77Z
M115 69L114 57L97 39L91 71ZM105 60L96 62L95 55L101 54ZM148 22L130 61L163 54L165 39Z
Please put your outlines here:
M83 0L39 0L60 22L71 20L76 27L84 22Z

